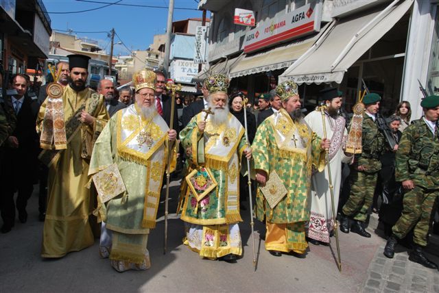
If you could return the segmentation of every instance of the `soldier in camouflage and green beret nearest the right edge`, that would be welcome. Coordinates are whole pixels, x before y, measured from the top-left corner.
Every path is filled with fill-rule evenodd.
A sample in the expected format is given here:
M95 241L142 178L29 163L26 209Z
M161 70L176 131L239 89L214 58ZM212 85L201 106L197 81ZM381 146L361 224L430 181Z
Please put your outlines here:
M384 255L392 258L398 240L414 227L414 249L409 259L427 268L438 268L423 254L427 246L431 218L439 195L439 97L429 96L420 103L424 117L407 127L396 152L397 181L406 193L403 214L392 227Z

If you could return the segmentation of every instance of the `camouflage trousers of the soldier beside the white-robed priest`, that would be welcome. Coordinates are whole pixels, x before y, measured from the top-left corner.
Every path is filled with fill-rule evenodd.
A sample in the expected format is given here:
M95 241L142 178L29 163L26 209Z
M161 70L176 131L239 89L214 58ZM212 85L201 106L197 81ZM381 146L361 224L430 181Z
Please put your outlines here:
M354 220L365 222L368 217L368 209L373 203L378 173L366 173L351 169L349 178L351 194L343 206L343 214Z

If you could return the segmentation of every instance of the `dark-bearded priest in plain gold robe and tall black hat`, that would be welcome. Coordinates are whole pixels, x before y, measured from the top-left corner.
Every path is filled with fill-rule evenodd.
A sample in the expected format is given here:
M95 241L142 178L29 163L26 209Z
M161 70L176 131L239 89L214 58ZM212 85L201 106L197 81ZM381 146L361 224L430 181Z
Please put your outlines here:
M86 188L95 140L108 121L104 97L86 87L88 56L69 55L71 76L64 89L47 86L40 107L40 160L49 166L42 257L63 257L93 245L95 196ZM56 80L56 79L55 79ZM92 227L93 226L93 227Z

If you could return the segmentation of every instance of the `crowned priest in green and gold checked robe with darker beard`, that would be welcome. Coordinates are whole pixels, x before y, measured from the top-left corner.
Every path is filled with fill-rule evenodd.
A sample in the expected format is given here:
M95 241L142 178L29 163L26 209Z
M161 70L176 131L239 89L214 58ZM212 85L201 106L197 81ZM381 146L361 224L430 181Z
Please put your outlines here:
M267 227L265 249L274 256L292 252L301 257L308 246L305 222L309 220L311 170L323 170L330 143L316 136L303 120L297 84L285 81L276 87L276 94L283 107L259 125L252 144L259 183L256 216ZM279 201L272 206L265 198L270 194L264 195L260 187L276 175L280 180L277 184L269 181L269 191L276 194L283 184L286 194L278 192Z

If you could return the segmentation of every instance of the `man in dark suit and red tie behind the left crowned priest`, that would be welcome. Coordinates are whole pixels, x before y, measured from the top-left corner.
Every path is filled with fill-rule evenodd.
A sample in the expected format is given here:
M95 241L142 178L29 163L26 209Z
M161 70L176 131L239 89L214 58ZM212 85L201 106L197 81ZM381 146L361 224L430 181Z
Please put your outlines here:
M156 81L156 97L155 103L158 114L160 114L163 119L166 121L166 124L169 126L171 124L171 97L164 94L166 88L166 77L165 73L161 71L154 71L157 75ZM174 102L174 125L172 125L172 129L175 129L178 132L180 131L178 127L178 113L177 113L177 104Z

